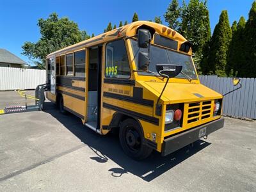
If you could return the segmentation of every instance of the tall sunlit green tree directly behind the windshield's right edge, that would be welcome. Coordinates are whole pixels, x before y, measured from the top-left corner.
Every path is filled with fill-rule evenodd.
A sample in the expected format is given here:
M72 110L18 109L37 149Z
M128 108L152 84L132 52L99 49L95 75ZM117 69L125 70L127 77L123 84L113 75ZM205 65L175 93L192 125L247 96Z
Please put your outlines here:
M209 41L211 40L211 28L207 2L191 0L188 6L183 2L181 8L181 24L179 32L192 43L194 61L196 67L205 71Z

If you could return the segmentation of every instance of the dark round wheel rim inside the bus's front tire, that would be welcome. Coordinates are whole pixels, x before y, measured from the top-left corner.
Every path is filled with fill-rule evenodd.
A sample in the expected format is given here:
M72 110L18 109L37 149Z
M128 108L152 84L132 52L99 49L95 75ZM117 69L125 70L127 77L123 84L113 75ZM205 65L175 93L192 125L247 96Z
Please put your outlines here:
M133 127L127 127L127 131L125 132L125 141L127 147L131 149L133 152L138 152L141 147L141 138L140 134Z

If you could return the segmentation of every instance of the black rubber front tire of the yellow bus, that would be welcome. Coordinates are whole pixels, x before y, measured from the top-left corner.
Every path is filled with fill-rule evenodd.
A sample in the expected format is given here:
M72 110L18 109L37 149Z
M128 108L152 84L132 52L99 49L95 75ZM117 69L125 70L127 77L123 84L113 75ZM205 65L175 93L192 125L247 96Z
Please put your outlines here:
M129 136L131 136L131 132L136 134L136 143L140 143L132 147L128 144L134 143L133 139L132 141L128 141L129 139L131 140L131 137L129 138ZM132 134L132 136L134 136L134 134ZM140 124L131 118L127 118L122 122L119 131L119 140L125 154L132 159L145 159L152 153L152 148L144 144L143 130L141 129Z

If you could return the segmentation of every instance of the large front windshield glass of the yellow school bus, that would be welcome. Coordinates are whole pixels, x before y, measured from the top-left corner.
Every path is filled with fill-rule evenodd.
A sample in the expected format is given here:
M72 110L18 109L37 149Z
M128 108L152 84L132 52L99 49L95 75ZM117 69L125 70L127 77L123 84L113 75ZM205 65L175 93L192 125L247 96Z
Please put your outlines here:
M136 67L138 68L138 53L140 51L142 52L148 52L148 49L146 48L139 48L138 43L136 40L131 40L132 42L132 51L134 55L134 61L136 63ZM179 52L171 51L169 49L164 49L162 47L158 47L156 45L151 44L150 45L150 63L148 70L155 72L156 71L156 65L157 64L173 64L173 65L182 65L182 72L175 78L185 78L188 79L188 76L191 79L197 79L195 67L193 65L193 61L191 56L188 56L186 54L182 54ZM154 76L154 74L150 74L148 72L138 72L140 75L145 76Z

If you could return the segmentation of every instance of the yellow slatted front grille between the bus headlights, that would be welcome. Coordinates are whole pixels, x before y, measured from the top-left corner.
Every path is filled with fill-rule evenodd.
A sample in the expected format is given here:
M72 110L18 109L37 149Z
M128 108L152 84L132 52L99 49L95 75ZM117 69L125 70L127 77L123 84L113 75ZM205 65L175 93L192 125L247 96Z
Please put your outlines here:
M210 118L212 116L213 104L214 100L185 104L185 109L188 114L185 124L192 124Z

